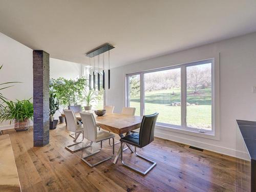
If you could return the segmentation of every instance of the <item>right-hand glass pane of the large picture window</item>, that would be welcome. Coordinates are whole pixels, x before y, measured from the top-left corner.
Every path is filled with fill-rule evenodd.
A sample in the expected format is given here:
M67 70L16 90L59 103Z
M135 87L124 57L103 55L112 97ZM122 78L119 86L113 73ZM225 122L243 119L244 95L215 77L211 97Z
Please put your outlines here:
M211 130L211 63L186 67L186 125Z

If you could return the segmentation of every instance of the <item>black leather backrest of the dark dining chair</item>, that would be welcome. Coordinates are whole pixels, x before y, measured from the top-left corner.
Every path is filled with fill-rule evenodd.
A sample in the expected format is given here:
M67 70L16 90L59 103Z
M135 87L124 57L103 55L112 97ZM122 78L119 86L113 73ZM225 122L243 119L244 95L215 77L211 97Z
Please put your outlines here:
M155 125L158 113L144 115L140 125L140 147L150 144L154 140Z

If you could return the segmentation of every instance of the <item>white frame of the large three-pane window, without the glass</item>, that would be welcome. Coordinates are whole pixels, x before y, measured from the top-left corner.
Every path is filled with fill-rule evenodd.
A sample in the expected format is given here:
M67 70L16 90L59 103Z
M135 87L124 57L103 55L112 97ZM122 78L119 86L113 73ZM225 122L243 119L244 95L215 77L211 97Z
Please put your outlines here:
M211 131L205 130L205 129L198 129L195 127L189 127L187 126L186 122L186 100L187 100L187 76L186 76L186 67L190 66L197 66L197 65L203 65L206 63L211 63ZM181 70L181 125L175 125L175 124L169 124L169 123L162 123L157 122L156 125L158 127L161 127L161 129L166 130L169 128L172 128L174 130L180 130L182 132L191 132L197 134L206 134L210 136L216 136L216 101L215 101L215 76L216 76L216 64L215 64L215 58L209 58L199 61L193 61L193 62L187 62L182 63L179 65L174 66L168 66L153 70L146 70L136 73L129 73L125 75L125 105L129 106L129 77L133 75L140 75L140 116L143 116L145 113L145 90L144 90L144 74L146 73L152 73L152 72L158 72L158 71L165 71L165 70L172 70L180 68ZM219 72L218 72L219 73ZM178 131L179 132L179 131ZM202 133L203 132L203 133ZM195 135L195 134L192 134ZM218 139L218 138L217 138Z

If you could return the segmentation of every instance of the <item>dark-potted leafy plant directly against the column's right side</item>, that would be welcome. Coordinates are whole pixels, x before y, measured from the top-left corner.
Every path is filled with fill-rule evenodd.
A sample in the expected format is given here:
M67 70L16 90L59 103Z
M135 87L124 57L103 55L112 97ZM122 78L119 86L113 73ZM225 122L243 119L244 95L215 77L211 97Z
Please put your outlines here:
M54 130L57 127L58 119L54 120L54 114L59 109L59 102L56 99L56 94L50 91L49 97L49 115L50 115L50 130Z

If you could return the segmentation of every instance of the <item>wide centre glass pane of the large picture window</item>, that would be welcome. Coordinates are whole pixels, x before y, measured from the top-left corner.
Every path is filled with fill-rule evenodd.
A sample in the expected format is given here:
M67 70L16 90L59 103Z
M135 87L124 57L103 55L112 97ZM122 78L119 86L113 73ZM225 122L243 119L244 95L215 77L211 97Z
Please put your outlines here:
M145 115L158 112L158 122L181 125L180 68L144 74Z

